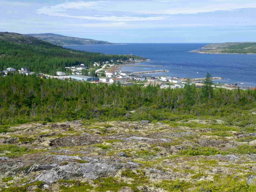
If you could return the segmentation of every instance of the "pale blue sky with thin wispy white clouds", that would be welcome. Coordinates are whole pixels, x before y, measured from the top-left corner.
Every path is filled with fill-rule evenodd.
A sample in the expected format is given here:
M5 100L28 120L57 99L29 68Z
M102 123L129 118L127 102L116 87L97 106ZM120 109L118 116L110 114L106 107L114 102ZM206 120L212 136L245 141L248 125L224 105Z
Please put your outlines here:
M0 31L113 43L256 41L255 0L0 0Z

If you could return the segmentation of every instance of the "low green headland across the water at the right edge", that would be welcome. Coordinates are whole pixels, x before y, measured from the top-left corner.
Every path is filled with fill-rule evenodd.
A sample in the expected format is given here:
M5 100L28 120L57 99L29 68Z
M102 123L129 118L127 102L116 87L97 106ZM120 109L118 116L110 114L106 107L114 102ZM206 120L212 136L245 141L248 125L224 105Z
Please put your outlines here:
M191 52L252 54L256 53L256 42L214 43Z

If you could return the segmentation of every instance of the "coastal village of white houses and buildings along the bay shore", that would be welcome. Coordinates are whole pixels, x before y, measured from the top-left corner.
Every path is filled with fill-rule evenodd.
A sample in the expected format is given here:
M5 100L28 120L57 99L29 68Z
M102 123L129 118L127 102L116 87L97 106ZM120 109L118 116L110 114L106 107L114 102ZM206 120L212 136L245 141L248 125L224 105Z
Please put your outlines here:
M134 60L131 60L134 61ZM167 71L167 70L159 70ZM105 84L117 84L120 83L121 86L132 86L133 84L139 84L140 86L147 87L148 85L157 86L159 85L161 89L178 89L184 88L187 83L188 78L170 77L170 76L154 76L148 74L148 72L158 72L158 71L145 71L145 72L129 72L120 70L120 66L116 65L113 60L103 62L102 64L94 62L93 66L88 68L84 64L79 64L77 66L66 67L66 71L57 71L56 76L47 75L43 73L35 73L30 71L29 68L23 67L20 69L7 68L2 71L2 76L8 75L8 73L19 73L24 75L34 75L36 74L40 78L58 78L60 80L68 81L81 81L90 83L105 83ZM146 73L145 75L142 75ZM191 79L191 83L196 85L196 88L202 88L204 86L205 78L195 78ZM212 79L222 79L222 77L212 77ZM216 88L225 89L238 89L237 83L228 84L214 84ZM240 89L256 89L255 87Z

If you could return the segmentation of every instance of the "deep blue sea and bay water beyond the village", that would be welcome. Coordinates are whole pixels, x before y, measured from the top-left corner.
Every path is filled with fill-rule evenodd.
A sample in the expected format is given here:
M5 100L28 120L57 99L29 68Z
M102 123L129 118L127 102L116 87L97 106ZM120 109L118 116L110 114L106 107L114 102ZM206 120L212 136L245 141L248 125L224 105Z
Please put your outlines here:
M224 79L220 83L237 83L240 86L256 86L256 54L200 54L189 52L200 49L205 44L117 44L117 45L69 45L71 49L100 52L105 54L133 54L146 57L150 61L136 63L138 67L124 66L125 71L151 71L166 69L150 75L171 77L205 77L212 76ZM139 67L150 65L149 67ZM163 65L163 67L154 67ZM147 74L149 75L149 74Z

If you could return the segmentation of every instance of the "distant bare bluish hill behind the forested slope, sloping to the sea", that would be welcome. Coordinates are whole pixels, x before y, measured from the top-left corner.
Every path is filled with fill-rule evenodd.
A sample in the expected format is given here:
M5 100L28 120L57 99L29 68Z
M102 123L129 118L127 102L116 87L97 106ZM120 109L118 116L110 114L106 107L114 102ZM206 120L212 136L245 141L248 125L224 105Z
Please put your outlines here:
M41 34L25 34L26 36L36 37L38 39L47 41L55 45L109 45L114 43L109 43L107 41L98 41L94 39L84 39L78 37L69 37L53 33L41 33Z

